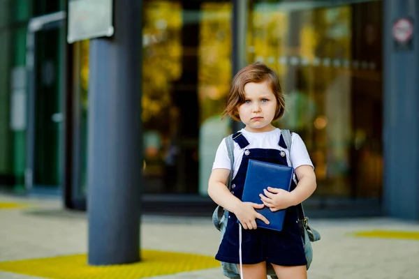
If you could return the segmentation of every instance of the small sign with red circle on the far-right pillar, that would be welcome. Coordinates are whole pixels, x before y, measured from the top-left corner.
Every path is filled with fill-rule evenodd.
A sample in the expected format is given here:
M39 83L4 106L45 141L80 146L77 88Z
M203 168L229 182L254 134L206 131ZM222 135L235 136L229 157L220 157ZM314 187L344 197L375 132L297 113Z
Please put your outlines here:
M411 50L413 38L413 21L401 17L393 23L392 36L397 50Z

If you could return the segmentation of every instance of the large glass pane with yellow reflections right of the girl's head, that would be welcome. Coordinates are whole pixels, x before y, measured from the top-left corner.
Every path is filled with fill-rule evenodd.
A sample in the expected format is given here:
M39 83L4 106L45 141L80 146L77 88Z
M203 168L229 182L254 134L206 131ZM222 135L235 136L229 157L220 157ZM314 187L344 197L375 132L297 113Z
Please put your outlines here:
M306 143L316 195L379 197L382 4L324 3L251 1L248 59L278 71L288 107L277 124Z

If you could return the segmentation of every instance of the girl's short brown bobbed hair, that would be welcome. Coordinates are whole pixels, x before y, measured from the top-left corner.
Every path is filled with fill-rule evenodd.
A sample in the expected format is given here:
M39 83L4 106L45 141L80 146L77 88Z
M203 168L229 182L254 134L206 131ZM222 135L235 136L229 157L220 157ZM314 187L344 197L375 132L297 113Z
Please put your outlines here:
M223 116L229 115L235 121L240 121L238 107L244 103L244 86L249 82L260 83L268 82L272 93L277 99L277 113L274 121L284 115L285 98L282 93L281 84L279 84L278 75L262 62L250 64L240 70L230 85L230 93L227 98L226 109Z

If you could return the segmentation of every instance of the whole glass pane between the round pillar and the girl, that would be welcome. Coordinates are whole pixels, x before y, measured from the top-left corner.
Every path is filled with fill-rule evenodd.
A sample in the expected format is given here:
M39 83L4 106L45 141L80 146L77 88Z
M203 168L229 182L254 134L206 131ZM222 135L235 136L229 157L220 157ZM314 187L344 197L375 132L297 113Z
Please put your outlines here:
M219 118L231 77L231 12L227 1L144 2L147 193L206 195L207 169L228 128Z

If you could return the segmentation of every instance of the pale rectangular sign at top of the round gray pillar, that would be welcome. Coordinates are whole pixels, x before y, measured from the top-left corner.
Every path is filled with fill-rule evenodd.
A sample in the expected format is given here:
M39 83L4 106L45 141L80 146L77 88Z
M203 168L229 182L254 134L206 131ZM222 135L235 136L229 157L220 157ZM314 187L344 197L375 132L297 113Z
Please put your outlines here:
M112 0L68 0L67 42L112 36L112 16Z

